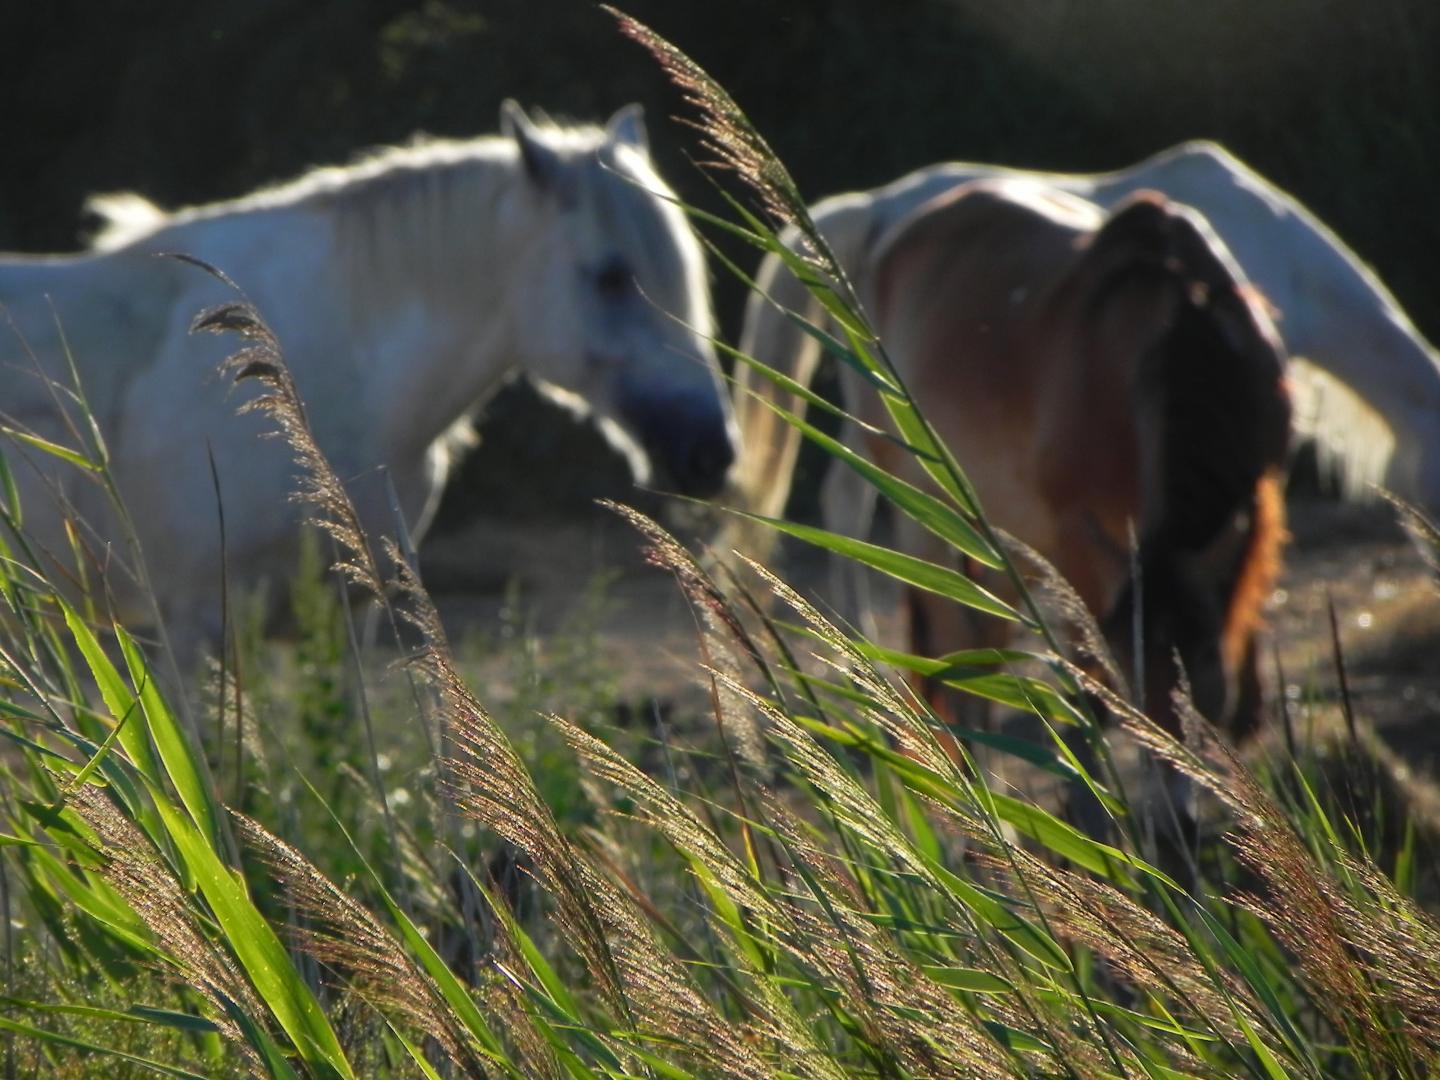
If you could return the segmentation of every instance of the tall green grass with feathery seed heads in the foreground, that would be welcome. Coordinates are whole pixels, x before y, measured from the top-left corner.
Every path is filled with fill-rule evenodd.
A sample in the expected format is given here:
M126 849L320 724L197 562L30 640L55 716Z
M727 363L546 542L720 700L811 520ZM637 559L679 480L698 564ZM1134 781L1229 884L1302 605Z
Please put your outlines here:
M736 202L736 222L708 223L789 259L842 327L827 347L884 396L939 494L791 419L1022 585L763 140L681 53L625 27L772 215ZM791 253L780 223L812 253ZM752 585L711 575L629 513L703 628L710 710L687 719L687 746L658 744L684 768L636 766L645 740L606 723L612 691L576 674L583 654L564 668L577 683L521 701L586 723L547 716L544 736L516 737L400 550L359 528L261 314L236 301L196 325L243 338L225 370L261 386L248 408L292 446L341 590L301 588L284 681L255 647L228 649L192 739L150 654L36 569L4 485L6 1077L1420 1077L1440 1063L1440 927L1367 854L1364 818L1305 760L1257 778L1198 719L1174 742L1086 674L1038 605L946 567L775 523L1011 619L1027 648L881 649L763 567ZM384 683L357 593L400 657ZM989 752L1086 789L1110 834L992 783L896 667L1034 714L1051 737ZM1228 832L1187 888L1155 865L1080 690L1224 805ZM1392 854L1413 878L1413 847Z

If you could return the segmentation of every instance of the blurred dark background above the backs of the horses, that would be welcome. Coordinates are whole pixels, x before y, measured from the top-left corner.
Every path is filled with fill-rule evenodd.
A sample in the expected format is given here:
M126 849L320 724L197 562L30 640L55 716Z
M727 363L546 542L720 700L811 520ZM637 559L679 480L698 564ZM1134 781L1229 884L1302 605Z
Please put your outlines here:
M946 158L1103 170L1214 138L1329 222L1440 337L1434 0L618 6L729 88L806 196ZM693 132L667 120L683 105L664 76L582 0L9 0L3 13L3 249L76 248L88 193L238 196L416 131L492 131L507 96L577 120L644 102L662 171L717 206L687 160ZM739 289L720 275L717 292L733 337Z

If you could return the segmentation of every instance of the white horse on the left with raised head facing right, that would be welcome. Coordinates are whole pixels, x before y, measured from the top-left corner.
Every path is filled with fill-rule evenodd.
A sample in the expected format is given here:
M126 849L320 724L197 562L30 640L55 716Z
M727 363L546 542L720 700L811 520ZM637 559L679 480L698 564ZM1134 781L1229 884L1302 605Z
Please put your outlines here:
M219 631L212 454L236 580L294 572L298 513L287 508L288 449L256 439L265 422L236 416L243 395L216 374L236 343L187 333L202 308L233 295L157 252L203 259L248 292L367 528L395 531L393 482L412 534L423 533L446 433L517 366L628 433L658 482L721 488L734 419L708 337L703 252L651 164L639 107L596 128L536 122L507 102L501 127L176 213L99 199L108 228L89 252L0 259L0 323L12 324L0 325L3 423L73 445L48 386L69 383L68 350L167 622L202 638ZM68 501L104 564L120 536L98 485L23 444L0 449L29 531L68 554L56 510ZM109 585L121 615L134 615L132 582Z

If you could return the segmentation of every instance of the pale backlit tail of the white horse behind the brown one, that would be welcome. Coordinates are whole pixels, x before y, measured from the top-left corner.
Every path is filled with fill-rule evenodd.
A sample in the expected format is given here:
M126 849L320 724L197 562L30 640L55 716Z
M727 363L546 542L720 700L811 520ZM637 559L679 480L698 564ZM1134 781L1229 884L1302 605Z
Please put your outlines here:
M865 272L871 217L871 199L865 194L827 199L814 209L816 228L857 288ZM788 229L783 239L792 249L799 246L793 229ZM825 308L773 253L766 255L760 264L756 285L744 310L740 351L808 387L819 369L822 348L792 315L825 327ZM747 364L739 364L734 410L742 444L737 471L740 494L747 510L766 517L782 517L791 494L801 433L778 416L770 405L805 413L804 400L750 370ZM753 541L752 550L766 546L760 537L746 540Z

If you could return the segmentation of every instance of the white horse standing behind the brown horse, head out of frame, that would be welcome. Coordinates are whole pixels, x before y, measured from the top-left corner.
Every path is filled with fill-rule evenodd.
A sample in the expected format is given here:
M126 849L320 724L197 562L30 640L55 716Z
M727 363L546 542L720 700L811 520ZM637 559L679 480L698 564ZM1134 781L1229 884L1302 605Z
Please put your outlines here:
M1352 494L1384 482L1404 498L1440 508L1440 354L1339 236L1214 143L1185 143L1115 173L936 164L871 192L825 199L812 216L864 295L868 259L883 235L936 196L991 179L1066 192L1103 209L1151 189L1200 210L1276 310L1286 351L1308 361L1290 364L1297 433L1319 444ZM822 317L778 259L762 265L757 282L782 305L812 321ZM759 294L750 298L740 347L804 383L819 360L815 340ZM789 492L796 436L750 399L747 387L772 396L769 383L747 369L739 382L736 408L746 448L740 482L752 505L778 514ZM832 524L858 526L864 511L855 504L863 492L850 482L848 469L831 474L835 481L824 501L842 511Z

